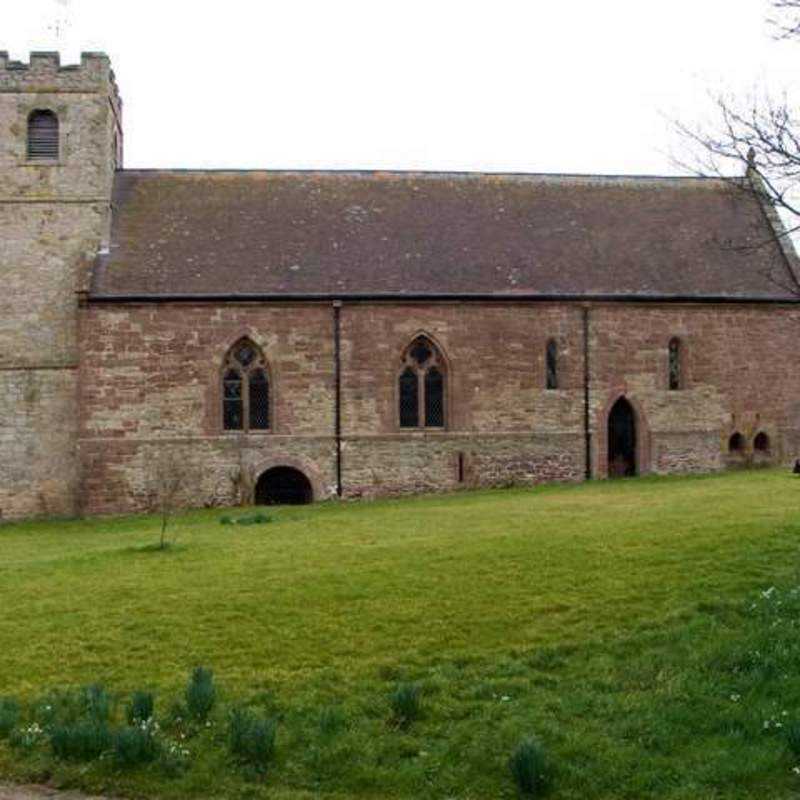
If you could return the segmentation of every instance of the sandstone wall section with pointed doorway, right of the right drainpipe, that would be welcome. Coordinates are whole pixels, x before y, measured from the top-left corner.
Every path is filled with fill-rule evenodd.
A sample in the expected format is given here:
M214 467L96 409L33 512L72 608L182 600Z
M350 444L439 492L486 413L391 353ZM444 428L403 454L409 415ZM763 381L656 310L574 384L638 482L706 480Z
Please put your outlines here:
M698 472L730 463L739 431L752 454L764 431L766 460L785 463L800 430L800 312L768 305L595 307L591 316L593 472L606 472L606 418L624 394L637 410L642 472ZM668 344L681 341L684 385L668 388Z

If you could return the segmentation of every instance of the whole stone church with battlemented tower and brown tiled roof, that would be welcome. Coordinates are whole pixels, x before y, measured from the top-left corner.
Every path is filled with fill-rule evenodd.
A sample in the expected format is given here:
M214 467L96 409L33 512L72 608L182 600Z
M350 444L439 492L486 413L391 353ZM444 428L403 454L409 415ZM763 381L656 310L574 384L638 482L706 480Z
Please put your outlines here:
M730 183L122 152L105 55L0 53L4 519L800 452L798 264Z

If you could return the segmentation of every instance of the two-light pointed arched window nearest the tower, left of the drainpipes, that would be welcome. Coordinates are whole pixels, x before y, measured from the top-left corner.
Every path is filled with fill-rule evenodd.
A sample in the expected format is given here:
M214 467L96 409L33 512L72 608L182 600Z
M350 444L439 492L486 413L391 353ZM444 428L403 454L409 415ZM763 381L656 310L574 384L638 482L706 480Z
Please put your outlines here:
M226 431L270 428L269 373L261 350L240 339L222 370L222 427Z

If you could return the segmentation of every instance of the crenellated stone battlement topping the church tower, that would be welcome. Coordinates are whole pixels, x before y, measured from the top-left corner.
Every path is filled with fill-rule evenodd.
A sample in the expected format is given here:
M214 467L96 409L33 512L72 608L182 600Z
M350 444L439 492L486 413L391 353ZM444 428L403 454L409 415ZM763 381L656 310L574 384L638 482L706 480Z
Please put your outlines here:
M33 52L25 63L0 51L0 92L108 92L115 105L122 105L105 53L81 53L80 64L62 66L56 52Z

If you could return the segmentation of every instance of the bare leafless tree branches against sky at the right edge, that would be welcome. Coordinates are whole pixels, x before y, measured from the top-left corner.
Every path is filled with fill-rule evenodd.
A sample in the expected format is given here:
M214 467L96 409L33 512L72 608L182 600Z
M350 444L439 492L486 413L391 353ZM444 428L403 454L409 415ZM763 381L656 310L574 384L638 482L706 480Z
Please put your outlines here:
M768 21L776 38L800 42L800 0L772 0L770 5ZM789 98L764 94L743 103L718 95L714 102L718 122L712 129L677 124L693 145L691 163L682 166L719 177L776 210L788 223L776 230L779 237L800 231L800 117ZM798 287L792 290L800 293Z

